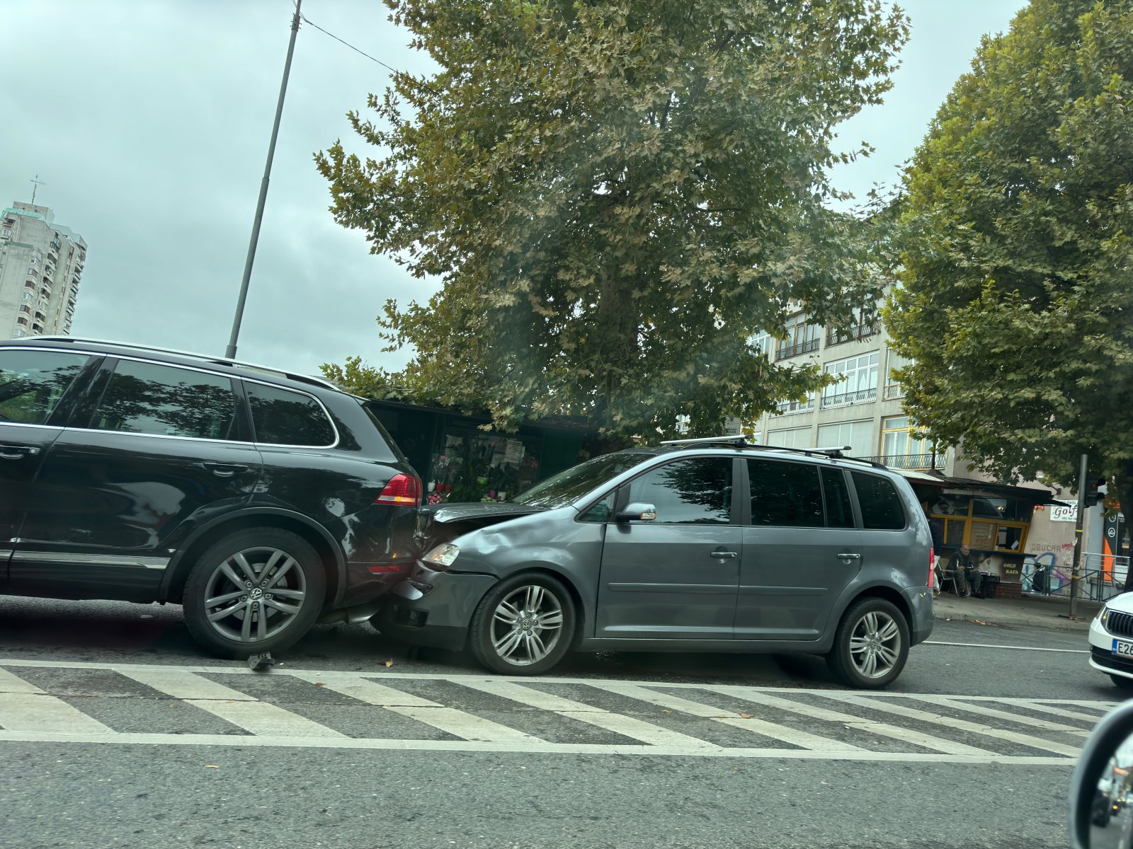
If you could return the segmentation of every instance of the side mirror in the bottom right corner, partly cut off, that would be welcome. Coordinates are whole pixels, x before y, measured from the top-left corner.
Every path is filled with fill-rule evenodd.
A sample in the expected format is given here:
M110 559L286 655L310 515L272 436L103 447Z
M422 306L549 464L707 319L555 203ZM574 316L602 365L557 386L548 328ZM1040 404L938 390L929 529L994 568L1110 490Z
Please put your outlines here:
M1074 849L1133 849L1133 702L1099 720L1070 786Z

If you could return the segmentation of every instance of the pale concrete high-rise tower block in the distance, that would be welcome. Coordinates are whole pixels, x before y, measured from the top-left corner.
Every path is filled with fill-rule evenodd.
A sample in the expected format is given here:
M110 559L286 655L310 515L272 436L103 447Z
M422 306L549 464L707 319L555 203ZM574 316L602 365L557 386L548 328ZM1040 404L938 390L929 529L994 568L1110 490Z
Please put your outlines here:
M86 242L46 206L0 215L0 338L70 333Z

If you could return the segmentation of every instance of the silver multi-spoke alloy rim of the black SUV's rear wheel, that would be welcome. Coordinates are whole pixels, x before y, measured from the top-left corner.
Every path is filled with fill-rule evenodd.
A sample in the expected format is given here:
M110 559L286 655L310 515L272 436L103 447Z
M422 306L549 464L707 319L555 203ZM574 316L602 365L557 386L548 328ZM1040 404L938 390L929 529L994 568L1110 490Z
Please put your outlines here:
M287 551L246 548L225 558L205 582L208 624L221 636L261 643L287 628L303 609L307 580Z

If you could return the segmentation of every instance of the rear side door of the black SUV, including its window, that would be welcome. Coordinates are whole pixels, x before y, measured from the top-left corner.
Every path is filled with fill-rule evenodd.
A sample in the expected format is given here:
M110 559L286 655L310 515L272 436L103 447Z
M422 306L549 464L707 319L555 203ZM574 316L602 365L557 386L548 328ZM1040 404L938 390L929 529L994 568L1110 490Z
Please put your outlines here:
M40 471L9 566L15 591L153 598L179 541L245 504L259 477L259 452L231 439L230 378L109 368L91 427L65 430Z

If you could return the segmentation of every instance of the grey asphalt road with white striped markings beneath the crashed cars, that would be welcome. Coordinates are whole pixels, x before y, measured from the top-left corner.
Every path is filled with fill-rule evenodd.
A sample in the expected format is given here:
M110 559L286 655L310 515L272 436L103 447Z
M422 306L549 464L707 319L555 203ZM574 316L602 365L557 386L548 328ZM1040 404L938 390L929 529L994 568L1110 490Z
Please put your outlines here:
M0 598L0 846L1062 848L1121 695L1084 635L970 623L864 700L806 658L516 680L368 626L255 675L177 608Z

